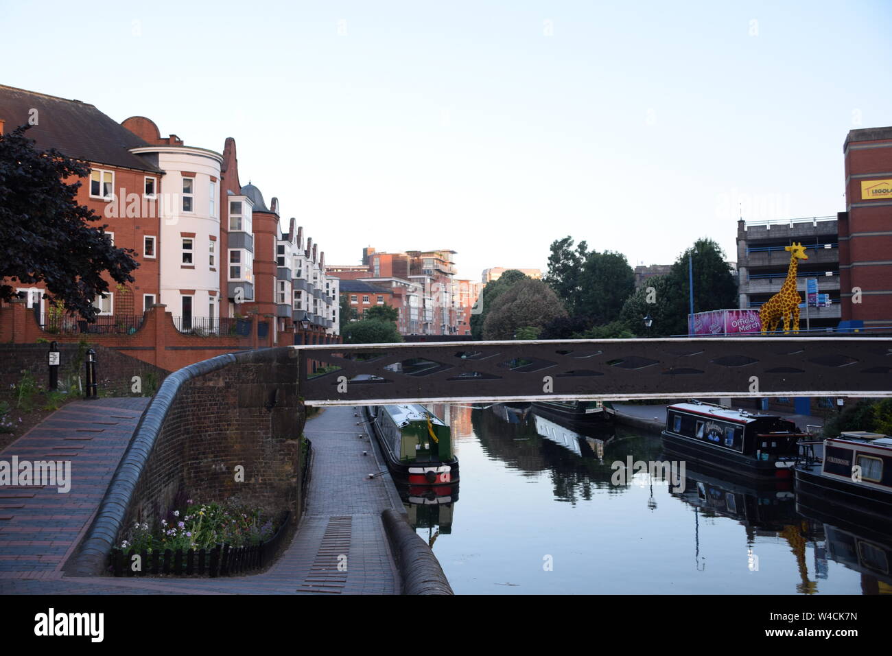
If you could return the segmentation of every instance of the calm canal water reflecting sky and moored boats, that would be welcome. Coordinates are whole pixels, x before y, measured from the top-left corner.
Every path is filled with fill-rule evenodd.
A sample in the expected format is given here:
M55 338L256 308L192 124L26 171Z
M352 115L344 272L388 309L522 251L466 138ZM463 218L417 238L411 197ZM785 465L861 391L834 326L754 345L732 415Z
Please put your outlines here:
M664 460L657 433L570 430L529 407L430 407L452 429L458 490L403 498L456 594L892 591L888 540L803 517L791 487L636 473Z

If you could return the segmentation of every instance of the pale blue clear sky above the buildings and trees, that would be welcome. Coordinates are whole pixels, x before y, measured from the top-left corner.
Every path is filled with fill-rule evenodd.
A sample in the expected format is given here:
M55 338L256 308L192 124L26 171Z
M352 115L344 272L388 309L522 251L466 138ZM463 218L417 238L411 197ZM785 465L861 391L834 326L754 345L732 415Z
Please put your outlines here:
M845 208L892 125L887 2L3 3L0 83L222 151L327 264L449 248L460 278L556 239L672 263L737 220Z

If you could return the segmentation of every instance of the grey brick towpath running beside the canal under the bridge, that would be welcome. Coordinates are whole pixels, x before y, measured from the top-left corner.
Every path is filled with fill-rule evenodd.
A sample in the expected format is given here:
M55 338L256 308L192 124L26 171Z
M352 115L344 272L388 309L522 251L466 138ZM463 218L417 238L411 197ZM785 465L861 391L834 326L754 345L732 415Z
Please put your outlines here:
M307 509L292 544L268 571L214 579L61 575L0 578L0 594L398 593L399 576L384 535L381 511L401 508L401 503L380 453L373 449L374 438L369 438L364 424L357 426L362 419L354 413L361 415L362 411L328 408L307 422L305 433L313 444ZM364 438L360 439L359 433ZM108 465L109 477L121 453L123 447L116 458L110 454L114 463ZM368 478L368 474L376 476ZM99 494L93 505L101 498ZM7 539L0 529L0 544ZM36 551L42 552L43 548L40 545ZM343 565L339 569L341 563L345 571ZM61 562L58 564L61 566Z

